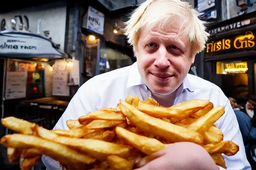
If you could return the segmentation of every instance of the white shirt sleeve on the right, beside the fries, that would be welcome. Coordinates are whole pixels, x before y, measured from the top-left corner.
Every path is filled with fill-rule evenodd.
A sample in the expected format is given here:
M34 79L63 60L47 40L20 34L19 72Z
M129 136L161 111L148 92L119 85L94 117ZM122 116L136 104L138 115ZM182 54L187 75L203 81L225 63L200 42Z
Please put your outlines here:
M239 146L239 151L234 156L227 156L222 154L226 162L227 170L251 170L251 166L246 158L243 138L239 129L236 115L228 98L224 94L220 95L220 97L222 98L220 101L224 101L222 105L225 108L225 113L217 121L217 127L222 130L224 141L229 140ZM220 170L224 169L220 167Z

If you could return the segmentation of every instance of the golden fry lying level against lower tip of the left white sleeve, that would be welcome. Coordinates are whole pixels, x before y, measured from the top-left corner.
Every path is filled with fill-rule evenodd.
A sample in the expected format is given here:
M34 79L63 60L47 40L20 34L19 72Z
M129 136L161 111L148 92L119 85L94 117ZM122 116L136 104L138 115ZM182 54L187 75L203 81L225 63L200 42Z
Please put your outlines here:
M82 129L82 128L76 128L76 129L70 129L70 130L57 129L57 130L51 130L51 131L61 136L68 136L68 137L75 137L75 138L81 138L88 133L87 129Z

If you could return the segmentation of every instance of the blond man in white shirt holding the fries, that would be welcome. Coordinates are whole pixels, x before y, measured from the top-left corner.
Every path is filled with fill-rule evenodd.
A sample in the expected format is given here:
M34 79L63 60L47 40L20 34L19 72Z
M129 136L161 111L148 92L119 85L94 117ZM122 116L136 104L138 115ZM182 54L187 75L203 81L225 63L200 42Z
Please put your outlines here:
M232 170L251 169L228 98L216 85L188 74L195 54L204 49L209 35L198 16L179 0L148 0L141 4L126 23L126 35L137 62L95 76L82 85L55 129L68 129L67 120L77 120L88 112L115 108L119 99L125 100L128 94L138 95L140 100L152 97L168 107L192 99L210 100L215 107L225 107L225 114L216 123L224 140L241 146L236 155L224 155L226 166ZM201 146L190 142L176 143L156 155L158 158L143 164L141 170L218 169ZM42 159L48 170L58 169L49 157Z

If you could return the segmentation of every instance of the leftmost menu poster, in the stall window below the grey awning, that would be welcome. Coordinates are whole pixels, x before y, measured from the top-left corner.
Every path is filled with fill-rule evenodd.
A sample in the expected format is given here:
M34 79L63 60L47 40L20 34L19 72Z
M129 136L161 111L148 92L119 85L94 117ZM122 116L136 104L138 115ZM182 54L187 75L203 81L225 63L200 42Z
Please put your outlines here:
M5 99L26 97L27 71L8 71L6 80Z

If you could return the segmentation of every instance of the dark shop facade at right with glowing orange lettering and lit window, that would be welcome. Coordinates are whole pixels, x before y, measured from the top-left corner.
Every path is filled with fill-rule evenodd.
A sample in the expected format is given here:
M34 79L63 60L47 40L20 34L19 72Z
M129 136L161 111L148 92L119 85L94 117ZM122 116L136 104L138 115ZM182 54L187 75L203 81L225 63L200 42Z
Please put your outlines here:
M226 96L246 100L256 93L256 17L239 16L209 27L203 78Z

